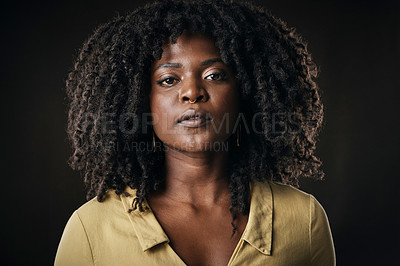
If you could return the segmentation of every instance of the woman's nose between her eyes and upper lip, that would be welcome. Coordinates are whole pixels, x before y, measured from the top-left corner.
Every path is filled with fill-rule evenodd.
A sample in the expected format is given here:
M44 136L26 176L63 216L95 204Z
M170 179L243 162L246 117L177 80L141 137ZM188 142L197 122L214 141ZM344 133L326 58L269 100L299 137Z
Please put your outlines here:
M181 103L198 103L208 101L209 95L203 88L201 82L192 79L183 82L179 93Z

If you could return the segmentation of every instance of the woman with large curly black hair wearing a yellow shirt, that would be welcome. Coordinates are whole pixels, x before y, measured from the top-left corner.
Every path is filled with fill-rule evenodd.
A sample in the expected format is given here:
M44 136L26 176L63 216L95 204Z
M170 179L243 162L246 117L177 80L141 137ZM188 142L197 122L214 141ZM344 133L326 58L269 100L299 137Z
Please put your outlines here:
M56 265L334 265L316 67L293 29L231 1L163 1L99 27L67 80L91 199Z

